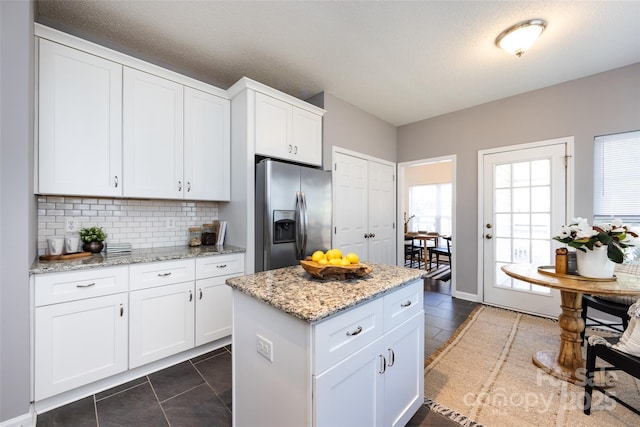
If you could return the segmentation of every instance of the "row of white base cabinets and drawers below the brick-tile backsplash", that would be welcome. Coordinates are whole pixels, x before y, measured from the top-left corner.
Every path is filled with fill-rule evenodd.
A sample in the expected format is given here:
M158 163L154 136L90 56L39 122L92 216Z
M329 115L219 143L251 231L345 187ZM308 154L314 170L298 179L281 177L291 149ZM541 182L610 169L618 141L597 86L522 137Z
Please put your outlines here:
M243 270L240 253L35 275L35 401L229 337Z

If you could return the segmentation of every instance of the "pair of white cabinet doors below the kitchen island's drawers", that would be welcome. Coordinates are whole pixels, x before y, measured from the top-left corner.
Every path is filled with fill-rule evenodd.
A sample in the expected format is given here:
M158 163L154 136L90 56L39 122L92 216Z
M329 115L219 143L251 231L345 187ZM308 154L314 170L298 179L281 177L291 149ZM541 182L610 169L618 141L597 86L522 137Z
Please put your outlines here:
M315 425L406 425L424 400L423 327L421 312L315 377Z

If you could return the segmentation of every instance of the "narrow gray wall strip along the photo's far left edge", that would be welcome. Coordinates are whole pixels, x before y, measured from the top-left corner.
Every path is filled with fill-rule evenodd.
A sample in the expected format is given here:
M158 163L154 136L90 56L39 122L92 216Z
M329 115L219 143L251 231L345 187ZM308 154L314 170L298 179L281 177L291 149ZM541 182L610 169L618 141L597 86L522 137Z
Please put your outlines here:
M0 423L29 413L33 1L0 1Z

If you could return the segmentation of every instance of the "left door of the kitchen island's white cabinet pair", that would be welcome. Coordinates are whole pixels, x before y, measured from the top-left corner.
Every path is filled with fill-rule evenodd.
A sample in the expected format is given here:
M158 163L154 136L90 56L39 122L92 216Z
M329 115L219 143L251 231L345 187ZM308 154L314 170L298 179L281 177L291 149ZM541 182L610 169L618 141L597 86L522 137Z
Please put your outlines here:
M382 426L385 350L383 338L314 377L316 427Z

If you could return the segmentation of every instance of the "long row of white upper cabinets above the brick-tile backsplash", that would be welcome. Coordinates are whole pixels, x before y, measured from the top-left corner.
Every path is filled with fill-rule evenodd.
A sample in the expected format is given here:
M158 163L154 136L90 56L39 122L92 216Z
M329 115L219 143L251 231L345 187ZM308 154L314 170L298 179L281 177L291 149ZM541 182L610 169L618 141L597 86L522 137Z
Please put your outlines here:
M225 91L36 24L36 193L227 201Z

